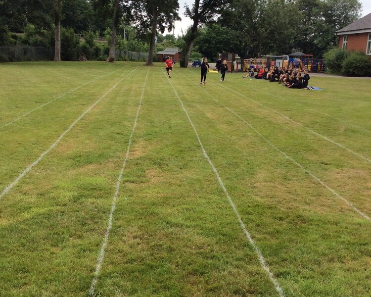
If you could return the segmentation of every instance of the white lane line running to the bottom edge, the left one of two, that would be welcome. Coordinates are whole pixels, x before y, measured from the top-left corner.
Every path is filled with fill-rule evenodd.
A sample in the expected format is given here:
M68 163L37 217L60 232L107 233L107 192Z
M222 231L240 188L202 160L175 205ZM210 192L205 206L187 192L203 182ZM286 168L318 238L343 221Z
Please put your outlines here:
M132 143L133 134L134 134L135 128L137 126L139 110L140 110L141 102L143 100L144 88L145 88L145 83L147 81L148 73L149 73L149 68L148 68L148 71L147 71L147 75L145 76L145 80L144 80L144 84L143 84L143 88L142 88L142 92L141 92L141 96L140 96L140 102L139 102L139 106L138 106L138 109L137 109L137 115L135 117L132 133L130 134L130 137L129 137L128 148L126 150L126 157L125 157L124 163L122 164L120 175L119 175L119 178L118 178L117 183L116 183L116 191L115 191L115 195L113 196L113 199L112 199L111 212L109 214L106 234L104 236L104 241L103 241L102 247L100 248L98 259L96 261L96 269L95 269L95 273L94 273L94 278L93 278L92 285L91 285L90 290L89 290L89 296L91 296L91 297L94 296L95 285L96 285L96 282L98 280L98 275L99 275L100 269L102 268L102 262L103 262L103 258L104 258L104 251L105 251L105 248L107 246L109 233L110 233L111 228L112 228L113 212L115 211L115 208L116 208L116 201L117 201L117 197L118 197L118 194L119 194L119 189L120 189L122 176L124 174L124 169L125 169L126 163L128 161L128 158L129 158L130 145Z

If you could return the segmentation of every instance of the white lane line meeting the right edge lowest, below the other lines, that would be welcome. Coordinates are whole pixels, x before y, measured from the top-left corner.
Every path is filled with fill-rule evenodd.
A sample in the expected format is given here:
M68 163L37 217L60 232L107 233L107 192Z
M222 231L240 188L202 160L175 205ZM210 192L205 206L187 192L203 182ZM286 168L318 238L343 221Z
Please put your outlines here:
M177 72L179 73L179 72ZM183 75L183 74L182 74ZM193 84L195 84L197 86L196 83L194 83L191 79L189 79L188 77L186 77L185 75L183 75L185 78L187 78L188 80L190 80ZM283 152L282 150L280 150L278 147L276 147L276 145L274 145L273 143L271 143L267 138L265 138L262 134L259 133L259 131L257 131L250 123L248 123L246 120L244 120L241 116L239 116L237 113L235 113L232 109L230 109L229 107L227 107L226 105L224 105L221 101L219 101L218 99L215 99L214 96L212 96L209 92L207 92L205 90L205 88L201 88L202 90L204 90L207 94L209 94L209 96L214 99L216 102L218 102L220 105L222 105L223 107L225 107L226 109L228 109L230 112L232 112L236 117L238 117L240 120L242 120L245 124L247 124L259 137L261 137L267 144L269 144L272 148L276 149L279 153L281 153L286 159L290 160L292 163L294 163L296 166L298 166L300 169L302 169L305 173L309 174L313 179L315 179L317 182L319 182L322 186L324 186L328 191L330 191L332 194L334 194L337 198L343 200L348 206L350 206L354 211L356 211L358 214L360 214L362 217L364 217L365 219L367 219L368 221L371 222L371 218L367 215L367 214L364 214L362 211L360 211L358 208L356 208L355 206L353 206L353 204L351 202L349 202L346 198L342 197L340 194L338 194L335 190L331 189L329 186L327 186L325 184L325 182L323 182L320 178L318 178L317 176L315 176L313 173L311 173L308 169L306 169L304 166L302 166L301 164L299 164L296 160L294 160L292 157L288 156L285 152Z

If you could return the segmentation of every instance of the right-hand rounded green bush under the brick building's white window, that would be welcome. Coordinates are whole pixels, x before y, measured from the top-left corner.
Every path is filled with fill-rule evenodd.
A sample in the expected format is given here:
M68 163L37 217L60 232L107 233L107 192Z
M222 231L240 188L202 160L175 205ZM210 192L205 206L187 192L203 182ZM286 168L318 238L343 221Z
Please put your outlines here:
M371 76L371 59L363 52L352 52L342 63L345 76Z

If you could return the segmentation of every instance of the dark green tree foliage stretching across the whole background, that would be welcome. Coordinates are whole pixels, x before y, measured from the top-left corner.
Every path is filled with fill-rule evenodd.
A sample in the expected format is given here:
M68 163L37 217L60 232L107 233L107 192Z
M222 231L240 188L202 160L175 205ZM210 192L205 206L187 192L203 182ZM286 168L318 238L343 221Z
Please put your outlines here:
M57 2L61 4L59 13L55 13ZM192 26L179 38L171 34L163 36L182 17L178 9L178 0L0 0L0 45L54 47L57 17L63 38L67 38L67 32L71 35L67 40L73 40L74 33L87 36L91 33L107 36L112 43L115 34L110 44L111 54L114 49L149 51L148 64L156 49L170 45L183 50L184 60L194 54L213 59L223 51L256 57L287 54L294 49L322 57L336 46L335 31L360 17L361 3L359 0L194 0L185 6L185 15L193 20ZM19 38L11 32L24 35ZM105 52L108 54L108 49Z

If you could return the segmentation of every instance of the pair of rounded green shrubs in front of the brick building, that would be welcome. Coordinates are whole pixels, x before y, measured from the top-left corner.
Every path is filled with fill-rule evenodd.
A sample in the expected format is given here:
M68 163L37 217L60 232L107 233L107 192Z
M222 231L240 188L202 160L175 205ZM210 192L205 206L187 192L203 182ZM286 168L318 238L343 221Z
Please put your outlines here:
M344 76L371 76L371 57L361 51L330 49L324 54L326 72Z

